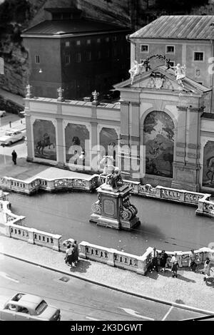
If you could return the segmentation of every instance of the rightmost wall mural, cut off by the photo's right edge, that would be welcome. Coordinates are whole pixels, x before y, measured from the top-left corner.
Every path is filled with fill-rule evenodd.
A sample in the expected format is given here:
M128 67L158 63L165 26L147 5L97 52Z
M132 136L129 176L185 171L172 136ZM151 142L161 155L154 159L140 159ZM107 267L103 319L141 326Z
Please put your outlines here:
M210 140L203 149L203 186L214 188L214 142Z

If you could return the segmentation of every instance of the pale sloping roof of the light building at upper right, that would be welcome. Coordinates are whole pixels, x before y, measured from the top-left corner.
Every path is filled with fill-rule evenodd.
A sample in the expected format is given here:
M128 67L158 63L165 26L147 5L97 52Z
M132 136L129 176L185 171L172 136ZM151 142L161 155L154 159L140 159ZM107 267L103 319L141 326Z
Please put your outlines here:
M130 38L214 39L214 16L161 16Z

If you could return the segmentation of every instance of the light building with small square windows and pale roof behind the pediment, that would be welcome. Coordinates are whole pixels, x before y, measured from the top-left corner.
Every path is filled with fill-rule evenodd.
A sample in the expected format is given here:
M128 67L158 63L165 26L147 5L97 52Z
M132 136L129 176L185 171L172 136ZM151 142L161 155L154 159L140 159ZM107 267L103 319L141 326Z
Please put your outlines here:
M162 54L171 66L185 65L187 76L212 88L206 111L213 113L213 40L214 16L161 16L131 34L131 63Z

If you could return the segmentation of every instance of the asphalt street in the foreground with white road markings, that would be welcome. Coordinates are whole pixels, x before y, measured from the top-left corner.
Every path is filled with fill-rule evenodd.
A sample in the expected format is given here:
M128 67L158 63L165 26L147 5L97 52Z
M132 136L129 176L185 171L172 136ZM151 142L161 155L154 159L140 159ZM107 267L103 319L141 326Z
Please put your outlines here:
M1 306L16 292L25 292L60 308L62 321L175 321L203 316L2 255L0 265Z

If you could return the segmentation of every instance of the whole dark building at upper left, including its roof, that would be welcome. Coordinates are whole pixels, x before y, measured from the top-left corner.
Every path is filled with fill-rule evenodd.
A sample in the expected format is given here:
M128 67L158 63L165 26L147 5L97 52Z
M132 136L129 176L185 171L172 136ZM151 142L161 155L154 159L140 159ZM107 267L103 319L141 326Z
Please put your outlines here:
M56 98L61 87L65 98L83 98L128 78L130 29L85 19L77 9L46 11L46 21L21 35L35 96Z

